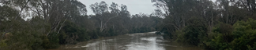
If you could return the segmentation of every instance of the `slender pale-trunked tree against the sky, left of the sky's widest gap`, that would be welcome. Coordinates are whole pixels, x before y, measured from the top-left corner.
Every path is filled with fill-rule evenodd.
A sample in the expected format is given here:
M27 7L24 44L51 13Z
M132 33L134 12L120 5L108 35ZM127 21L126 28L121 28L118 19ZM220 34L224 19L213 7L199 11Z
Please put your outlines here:
M100 2L90 5L93 13L96 14L96 16L92 16L95 20L97 20L97 25L100 27L100 32L102 32L104 29L107 28L108 22L115 18L116 16L111 16L111 13L108 11L108 5L106 2ZM111 8L114 10L114 8Z

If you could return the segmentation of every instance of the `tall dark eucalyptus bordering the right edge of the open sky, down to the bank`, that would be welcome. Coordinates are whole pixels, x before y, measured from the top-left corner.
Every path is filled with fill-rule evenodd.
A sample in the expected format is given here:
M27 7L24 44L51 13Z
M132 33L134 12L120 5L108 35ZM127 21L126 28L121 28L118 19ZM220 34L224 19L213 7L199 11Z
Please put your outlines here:
M195 6L198 5L198 0L152 0L152 2L158 9L164 11L165 17L161 31L168 36L174 35L176 30L183 30L187 20L198 15L192 14L196 11Z

